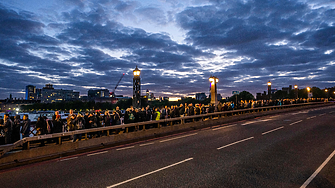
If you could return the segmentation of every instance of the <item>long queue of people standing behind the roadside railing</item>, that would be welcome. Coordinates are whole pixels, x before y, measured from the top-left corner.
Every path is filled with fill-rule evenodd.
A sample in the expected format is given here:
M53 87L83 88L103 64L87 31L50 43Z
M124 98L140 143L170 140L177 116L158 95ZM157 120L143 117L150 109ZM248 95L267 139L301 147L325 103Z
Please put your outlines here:
M10 144L14 143L21 138L29 137L30 135L44 135L52 133L61 133L67 131L90 129L97 127L121 125L128 123L137 123L151 120L161 120L168 118L177 118L183 116L193 116L221 111L229 111L234 109L244 108L255 108L269 105L284 105L296 103L295 100L275 100L275 101L239 101L238 105L234 102L221 103L217 105L209 104L180 104L175 106L165 107L142 107L134 108L131 106L125 111L121 111L119 107L116 107L112 111L97 111L97 112L85 112L85 113L74 113L73 110L69 111L69 115L66 119L62 119L58 111L51 119L46 116L40 116L37 119L35 126L31 126L31 120L28 114L20 119L20 115L9 117L8 114L4 115L3 119L0 119L0 137L3 138L3 143ZM32 127L32 129L31 129ZM147 127L146 127L147 128ZM115 133L120 133L122 130L118 129ZM22 135L22 136L21 136ZM90 134L91 137L101 136L101 132ZM81 140L81 134L74 135L73 141Z

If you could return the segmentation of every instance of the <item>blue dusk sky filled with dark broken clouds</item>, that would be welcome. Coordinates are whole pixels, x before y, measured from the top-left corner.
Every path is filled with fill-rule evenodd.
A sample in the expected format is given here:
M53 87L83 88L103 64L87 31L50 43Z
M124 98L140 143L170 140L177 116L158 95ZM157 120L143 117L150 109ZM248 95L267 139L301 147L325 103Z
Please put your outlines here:
M333 0L1 0L0 99L25 87L183 97L335 86Z

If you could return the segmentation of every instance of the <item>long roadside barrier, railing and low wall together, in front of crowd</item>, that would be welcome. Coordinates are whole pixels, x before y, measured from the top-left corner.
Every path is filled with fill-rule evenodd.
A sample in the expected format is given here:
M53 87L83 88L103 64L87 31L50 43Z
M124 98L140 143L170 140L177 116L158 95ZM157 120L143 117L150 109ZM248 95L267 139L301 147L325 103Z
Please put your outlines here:
M5 148L7 153L6 152L3 153L3 156L0 158L0 169L15 167L36 161L43 161L47 159L64 157L81 152L92 151L96 149L116 146L118 144L130 143L139 140L145 140L172 133L201 129L205 127L211 127L220 124L236 122L240 120L252 119L266 115L296 111L300 109L316 108L326 105L334 105L334 104L312 103L312 104L295 105L295 106L288 105L288 106L263 107L263 108L245 109L245 110L228 111L228 112L217 112L212 114L203 114L199 116L189 116L189 117L186 116L181 118L164 119L160 121L133 123L127 125L112 126L112 127L102 127L95 129L72 131L67 133L57 133L52 135L35 136L24 139L20 141L18 144L22 145L24 143L27 143L29 145L30 142L38 142L50 138L53 139L57 138L62 140L62 138L64 137L69 137L71 135L79 133L85 134L86 139L78 142L66 142L66 143L62 143L62 141L60 141L59 144L56 145L47 145L43 147L31 148L13 153L8 151L10 150L9 149L10 147L15 147L14 145L4 146L2 148ZM185 123L185 121L190 122ZM178 124L172 124L172 122L178 122ZM144 126L148 124L157 125L157 128L144 129ZM167 124L168 126L162 126L162 124ZM120 128L124 129L125 132L127 132L127 129L131 127L135 127L138 129L139 127L143 127L143 129L129 133L109 134L110 131ZM105 131L107 134L106 136L87 139L87 134L97 131Z

